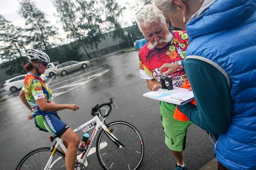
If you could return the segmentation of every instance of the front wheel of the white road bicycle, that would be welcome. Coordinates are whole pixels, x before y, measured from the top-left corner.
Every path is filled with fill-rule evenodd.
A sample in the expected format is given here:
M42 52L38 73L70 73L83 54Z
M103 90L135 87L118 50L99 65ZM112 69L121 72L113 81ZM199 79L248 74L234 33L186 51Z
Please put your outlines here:
M100 165L106 170L138 169L144 156L144 144L139 131L124 121L112 122L108 129L124 147L114 144L107 132L102 129L96 142L96 154Z

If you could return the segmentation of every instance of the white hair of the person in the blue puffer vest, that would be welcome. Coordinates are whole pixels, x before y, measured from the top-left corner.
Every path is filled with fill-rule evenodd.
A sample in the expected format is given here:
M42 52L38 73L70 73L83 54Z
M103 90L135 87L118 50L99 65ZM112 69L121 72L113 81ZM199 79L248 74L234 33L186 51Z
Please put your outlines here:
M190 0L180 0L182 2L187 2ZM195 3L202 3L204 0L191 0ZM162 12L164 13L172 13L174 12L174 6L172 6L170 0L153 0L153 10L156 13L156 15L161 15Z

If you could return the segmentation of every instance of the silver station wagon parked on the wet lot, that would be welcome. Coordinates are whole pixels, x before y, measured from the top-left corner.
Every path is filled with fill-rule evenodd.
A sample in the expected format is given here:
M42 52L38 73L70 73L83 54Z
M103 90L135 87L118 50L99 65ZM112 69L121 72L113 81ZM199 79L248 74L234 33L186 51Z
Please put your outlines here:
M62 74L65 75L68 72L79 70L81 68L86 68L88 66L91 66L90 61L68 61L65 63L62 63L55 67L54 72L56 75Z

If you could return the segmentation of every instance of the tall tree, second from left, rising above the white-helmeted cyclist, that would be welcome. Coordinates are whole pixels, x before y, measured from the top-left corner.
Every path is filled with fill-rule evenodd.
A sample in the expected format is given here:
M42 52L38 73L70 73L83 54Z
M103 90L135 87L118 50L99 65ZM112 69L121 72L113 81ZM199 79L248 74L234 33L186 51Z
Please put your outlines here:
M21 0L18 12L25 19L29 41L34 48L48 50L54 46L50 39L58 37L58 29L50 25L45 13L40 11L33 1Z

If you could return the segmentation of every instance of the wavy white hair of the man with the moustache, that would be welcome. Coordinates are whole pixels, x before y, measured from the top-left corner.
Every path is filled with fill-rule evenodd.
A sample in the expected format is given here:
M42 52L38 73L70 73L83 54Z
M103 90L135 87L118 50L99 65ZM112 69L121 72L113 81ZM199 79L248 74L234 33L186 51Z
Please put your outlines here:
M158 21L161 21L162 23L166 24L164 15L162 13L160 15L156 15L156 13L153 10L152 4L145 5L137 15L137 25L140 29L140 32L142 32L140 27L141 23L143 23L144 26L148 28L152 22Z

